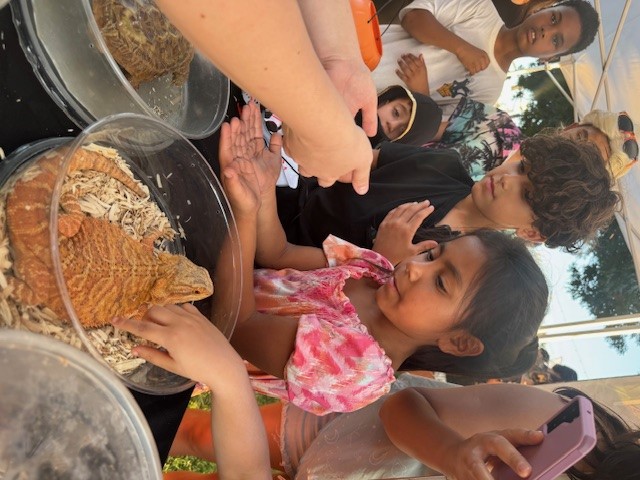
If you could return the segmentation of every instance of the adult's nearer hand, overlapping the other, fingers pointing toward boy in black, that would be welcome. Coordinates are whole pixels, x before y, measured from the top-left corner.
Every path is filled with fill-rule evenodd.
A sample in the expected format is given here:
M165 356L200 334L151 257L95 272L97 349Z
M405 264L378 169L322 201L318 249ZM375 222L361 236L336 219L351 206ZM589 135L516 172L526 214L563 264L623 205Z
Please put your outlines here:
M317 177L321 187L340 180L352 183L360 195L367 193L373 150L366 134L355 123L330 138L323 134L303 138L286 124L282 127L285 151L299 163L300 175ZM343 161L336 162L337 158ZM334 161L328 163L327 159Z

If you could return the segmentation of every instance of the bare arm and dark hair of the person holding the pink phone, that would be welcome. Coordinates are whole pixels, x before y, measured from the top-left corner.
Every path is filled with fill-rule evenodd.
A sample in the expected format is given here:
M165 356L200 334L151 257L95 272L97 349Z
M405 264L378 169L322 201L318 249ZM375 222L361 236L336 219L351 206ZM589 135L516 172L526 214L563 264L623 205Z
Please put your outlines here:
M567 387L552 393L517 384L463 388L464 392L408 388L392 395L380 409L391 442L449 478L489 479L486 462L492 464L492 457L526 478L530 466L514 447L541 442L543 435L531 429L551 418L568 399L584 395ZM639 478L640 432L597 402L593 407L597 446L567 475L585 480Z

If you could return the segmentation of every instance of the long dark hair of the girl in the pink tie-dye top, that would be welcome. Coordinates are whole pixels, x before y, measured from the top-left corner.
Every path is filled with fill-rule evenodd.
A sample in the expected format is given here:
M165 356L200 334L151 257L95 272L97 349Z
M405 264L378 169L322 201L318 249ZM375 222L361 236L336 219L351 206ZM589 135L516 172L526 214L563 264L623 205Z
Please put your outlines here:
M465 295L456 326L480 339L484 351L456 357L426 346L407 358L401 370L503 378L524 373L536 360L536 333L549 297L544 274L520 239L493 230L468 235L480 240L487 260Z

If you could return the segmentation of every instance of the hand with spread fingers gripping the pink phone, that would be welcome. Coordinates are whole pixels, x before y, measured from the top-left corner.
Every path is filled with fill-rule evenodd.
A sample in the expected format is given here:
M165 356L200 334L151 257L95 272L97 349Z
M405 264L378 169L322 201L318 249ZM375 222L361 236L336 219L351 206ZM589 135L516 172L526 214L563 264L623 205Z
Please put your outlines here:
M478 433L449 450L447 463L451 469L444 473L451 480L493 480L490 467L499 459L526 478L531 474L531 465L516 447L537 445L543 438L540 431L522 428Z

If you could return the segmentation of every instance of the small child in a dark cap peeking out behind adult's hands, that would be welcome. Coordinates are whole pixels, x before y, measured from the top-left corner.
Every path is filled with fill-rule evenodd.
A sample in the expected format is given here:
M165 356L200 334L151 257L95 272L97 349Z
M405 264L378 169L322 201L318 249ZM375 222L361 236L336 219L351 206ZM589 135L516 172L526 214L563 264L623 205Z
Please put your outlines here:
M243 99L252 99L243 92ZM282 121L269 109L262 107L263 135L267 143L274 133L282 134ZM378 94L378 130L369 137L372 147L382 142L398 142L407 145L423 145L433 139L442 121L442 110L428 96L411 92L401 85L392 85ZM362 112L355 121L362 124ZM279 187L298 187L298 164L284 149L281 151L282 167L276 183ZM286 195L286 193L285 193Z

